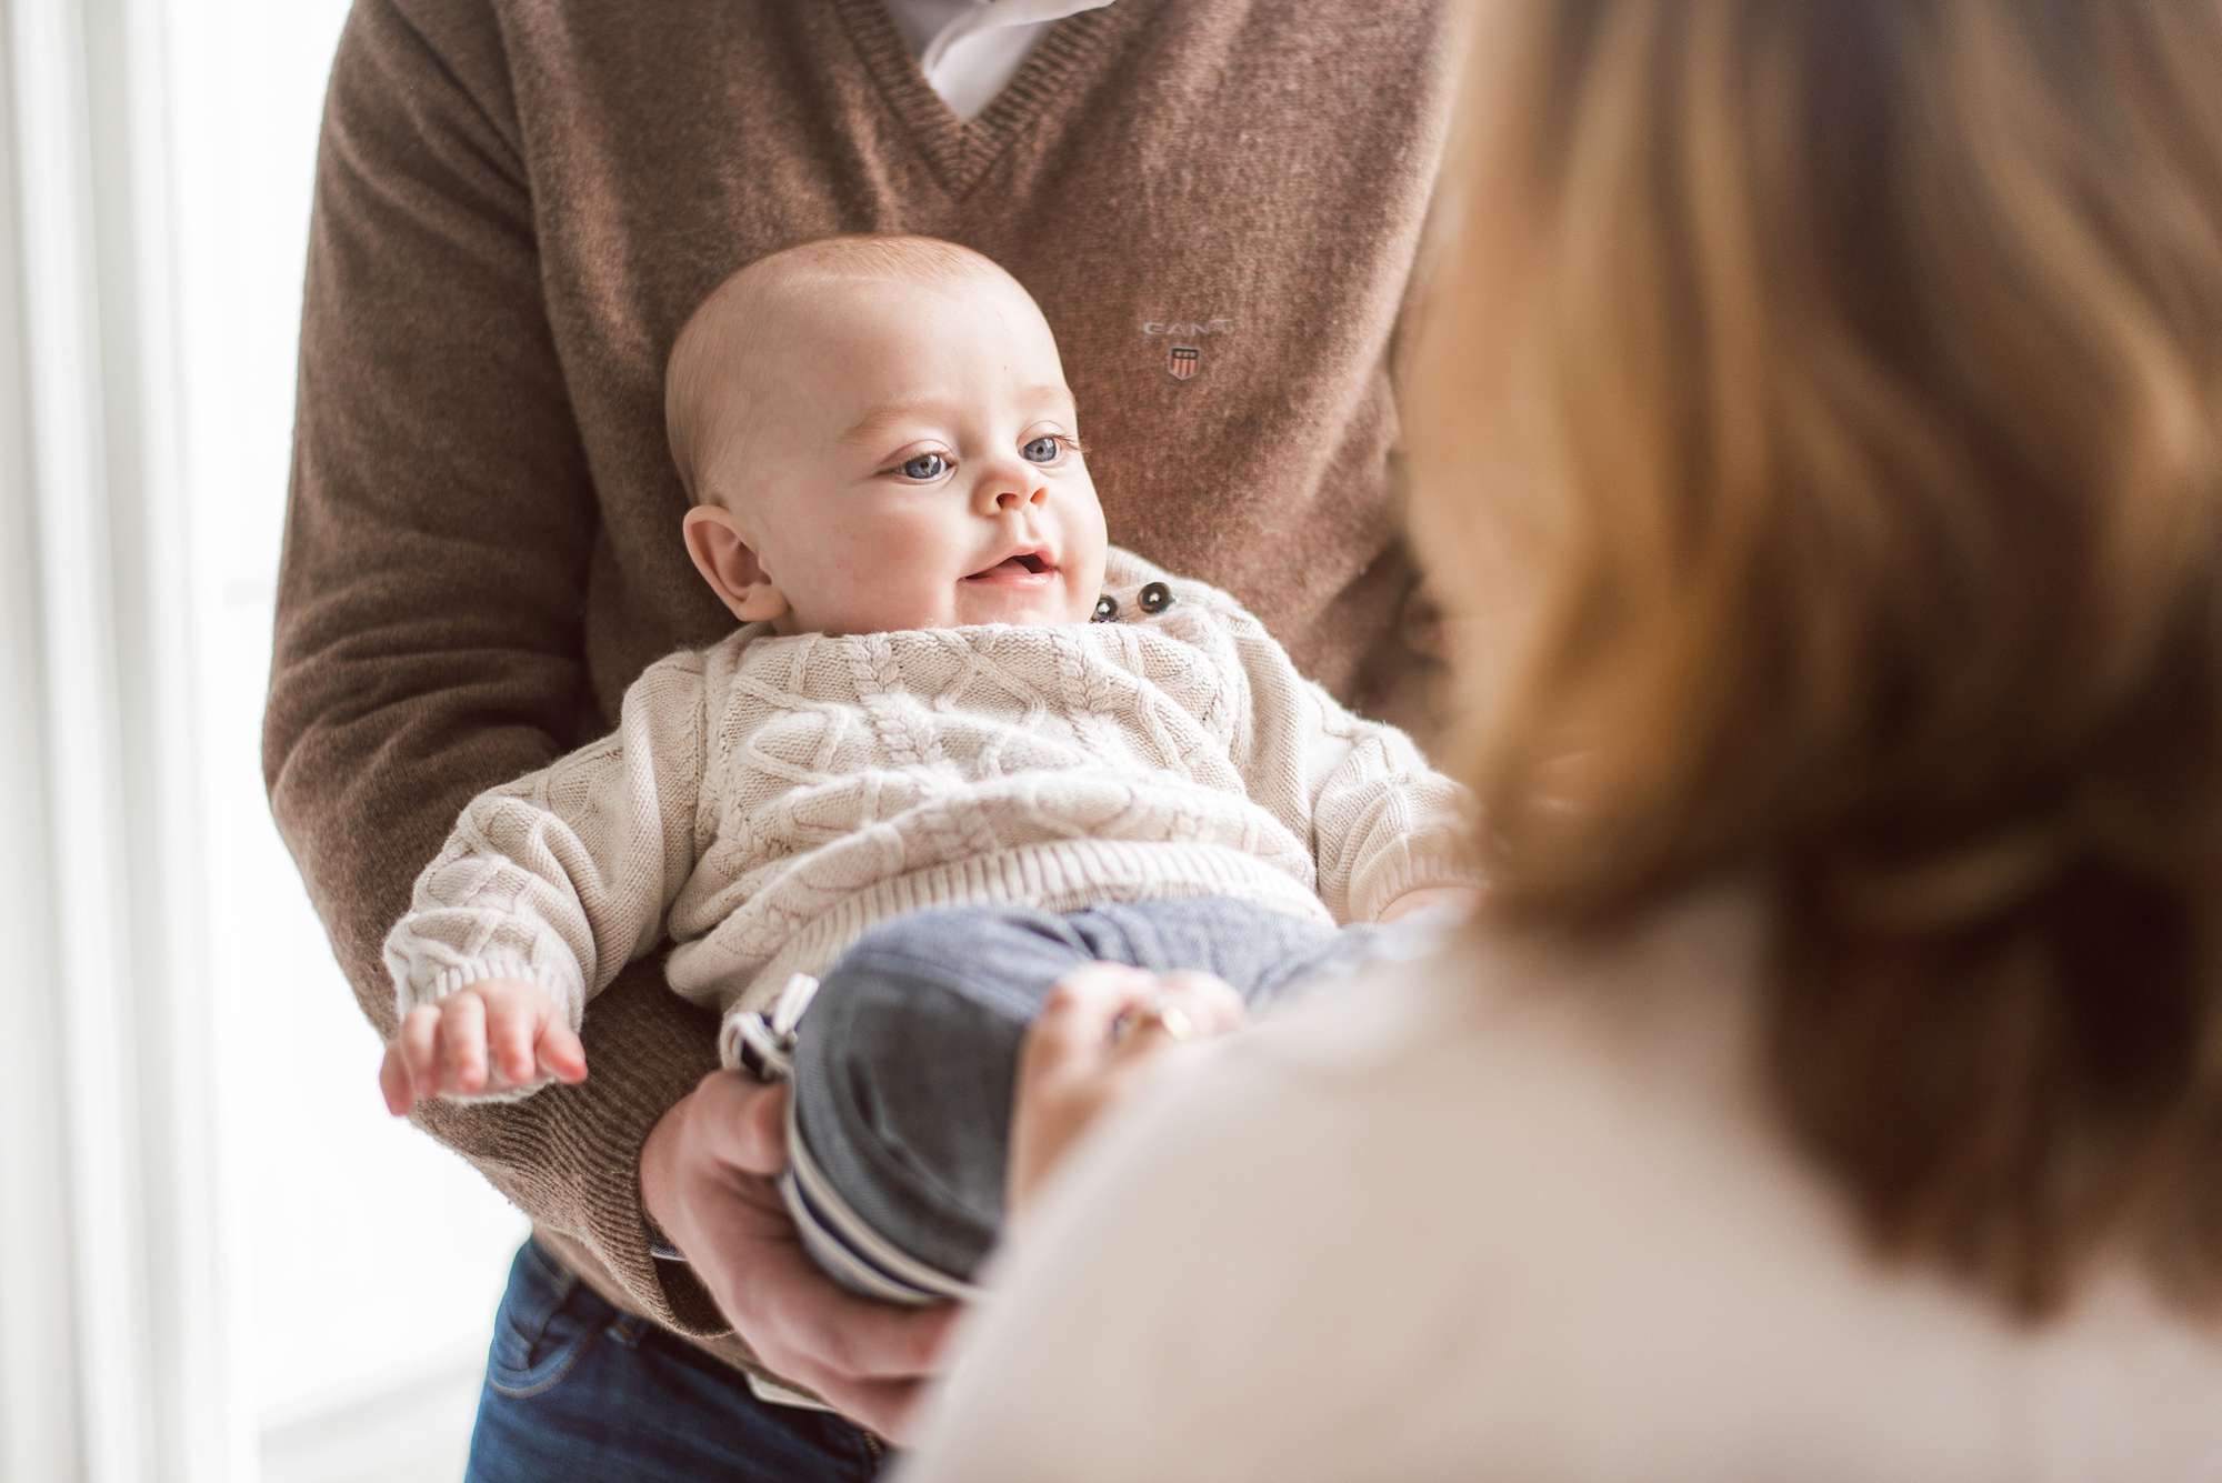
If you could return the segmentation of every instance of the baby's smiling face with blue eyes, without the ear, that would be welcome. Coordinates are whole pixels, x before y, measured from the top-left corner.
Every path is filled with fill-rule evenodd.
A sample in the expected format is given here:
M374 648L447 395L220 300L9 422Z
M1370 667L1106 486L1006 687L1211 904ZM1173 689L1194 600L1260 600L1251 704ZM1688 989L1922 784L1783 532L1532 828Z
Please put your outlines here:
M835 280L758 337L715 471L793 633L1087 622L1104 515L1018 284Z

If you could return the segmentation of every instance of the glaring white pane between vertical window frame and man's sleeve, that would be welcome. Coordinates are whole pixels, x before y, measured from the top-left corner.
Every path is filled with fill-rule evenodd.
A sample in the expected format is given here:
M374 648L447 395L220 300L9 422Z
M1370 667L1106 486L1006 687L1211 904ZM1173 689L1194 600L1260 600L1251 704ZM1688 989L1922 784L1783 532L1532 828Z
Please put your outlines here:
M258 1414L278 1425L427 1370L476 1370L522 1237L467 1166L387 1119L378 1046L262 793L309 184L344 11L342 0L198 0L193 24L171 24L182 475L193 566L209 577L196 724L218 884L211 1010L253 1026L238 1041L247 1057L220 1077L220 1119L242 1166L229 1214L251 1383ZM409 1301L378 1281L387 1274L411 1283Z

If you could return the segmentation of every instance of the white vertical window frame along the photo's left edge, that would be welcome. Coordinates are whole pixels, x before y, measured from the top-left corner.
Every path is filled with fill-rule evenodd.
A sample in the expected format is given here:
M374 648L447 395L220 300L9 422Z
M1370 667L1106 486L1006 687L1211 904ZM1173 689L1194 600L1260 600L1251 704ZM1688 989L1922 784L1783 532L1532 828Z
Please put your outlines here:
M0 1474L253 1474L196 983L158 0L0 0ZM22 722L29 724L22 724Z

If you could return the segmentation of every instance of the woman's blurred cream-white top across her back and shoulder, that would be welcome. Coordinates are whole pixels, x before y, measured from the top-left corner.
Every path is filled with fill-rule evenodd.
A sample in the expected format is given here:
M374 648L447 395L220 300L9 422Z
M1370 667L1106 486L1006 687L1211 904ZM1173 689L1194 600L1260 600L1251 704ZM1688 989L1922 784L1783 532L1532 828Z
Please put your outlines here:
M902 1481L2222 1479L2222 1334L2138 1281L2024 1332L1862 1257L1753 1070L1758 928L1469 944L1215 1043L989 1274Z

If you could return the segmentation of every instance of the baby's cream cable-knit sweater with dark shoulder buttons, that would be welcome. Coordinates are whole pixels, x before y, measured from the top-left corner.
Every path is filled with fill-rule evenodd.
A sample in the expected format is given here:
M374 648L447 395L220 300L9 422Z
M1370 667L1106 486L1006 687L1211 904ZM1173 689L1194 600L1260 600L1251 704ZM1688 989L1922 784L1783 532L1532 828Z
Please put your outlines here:
M1149 582L1173 591L1155 615ZM613 735L464 810L387 935L400 1012L516 977L575 1028L669 935L671 988L731 1026L931 906L1218 895L1364 921L1480 884L1464 795L1404 733L1220 591L1120 551L1107 586L1104 624L751 624L653 664Z

